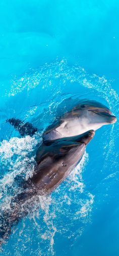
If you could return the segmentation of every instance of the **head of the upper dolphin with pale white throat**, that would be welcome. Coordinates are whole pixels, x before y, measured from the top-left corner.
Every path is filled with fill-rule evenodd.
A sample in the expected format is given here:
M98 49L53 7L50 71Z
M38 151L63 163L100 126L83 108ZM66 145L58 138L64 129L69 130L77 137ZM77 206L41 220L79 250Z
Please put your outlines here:
M74 118L80 119L80 131L97 130L104 124L116 122L116 117L103 104L94 100L84 100L72 110Z

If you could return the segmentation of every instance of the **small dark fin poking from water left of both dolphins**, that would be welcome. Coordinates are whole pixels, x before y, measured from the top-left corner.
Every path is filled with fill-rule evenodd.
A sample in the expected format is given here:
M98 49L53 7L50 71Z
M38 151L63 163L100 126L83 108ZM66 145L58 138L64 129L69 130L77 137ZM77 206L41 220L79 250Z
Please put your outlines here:
M24 137L25 135L29 135L32 137L38 131L38 129L33 127L30 122L25 123L20 119L11 118L8 119L7 122L10 122L10 124L15 127L15 129L20 133L22 137Z

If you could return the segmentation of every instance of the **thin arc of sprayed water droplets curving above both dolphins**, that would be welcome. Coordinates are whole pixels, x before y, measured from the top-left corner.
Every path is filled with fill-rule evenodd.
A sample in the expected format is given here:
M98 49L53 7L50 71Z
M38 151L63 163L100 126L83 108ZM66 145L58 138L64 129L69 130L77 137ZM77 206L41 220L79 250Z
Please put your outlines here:
M110 108L112 108L113 103L115 105L115 103L118 102L118 95L111 88L112 81L107 81L104 76L99 77L96 74L89 75L85 69L79 65L68 66L66 59L50 64L46 63L44 66L40 67L38 71L32 70L32 73L26 73L19 80L14 78L9 97L15 96L24 90L30 91L36 87L42 89L51 88L53 86L53 79L57 78L59 78L59 80L58 86L55 84L56 93L61 93L61 85L63 85L63 87L67 86L67 81L70 81L71 84L78 82L79 86L98 92L102 98L106 99ZM110 101L110 98L112 101Z

